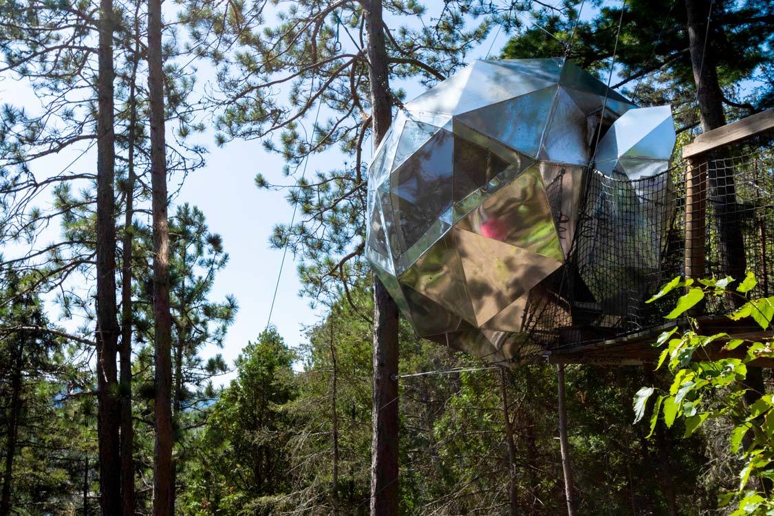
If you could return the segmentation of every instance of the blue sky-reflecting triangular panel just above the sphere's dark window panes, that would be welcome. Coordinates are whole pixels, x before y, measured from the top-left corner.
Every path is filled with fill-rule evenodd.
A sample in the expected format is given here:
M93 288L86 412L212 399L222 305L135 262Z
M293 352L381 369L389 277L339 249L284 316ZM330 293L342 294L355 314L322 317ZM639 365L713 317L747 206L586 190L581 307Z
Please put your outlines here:
M557 86L545 87L454 118L530 157L538 155Z

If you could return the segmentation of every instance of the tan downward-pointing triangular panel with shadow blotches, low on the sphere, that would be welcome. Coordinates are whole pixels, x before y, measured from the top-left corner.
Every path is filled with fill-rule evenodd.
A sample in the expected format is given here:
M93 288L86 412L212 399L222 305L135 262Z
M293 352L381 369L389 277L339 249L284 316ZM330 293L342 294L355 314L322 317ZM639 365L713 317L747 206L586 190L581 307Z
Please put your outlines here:
M562 265L469 231L455 228L454 237L479 326Z

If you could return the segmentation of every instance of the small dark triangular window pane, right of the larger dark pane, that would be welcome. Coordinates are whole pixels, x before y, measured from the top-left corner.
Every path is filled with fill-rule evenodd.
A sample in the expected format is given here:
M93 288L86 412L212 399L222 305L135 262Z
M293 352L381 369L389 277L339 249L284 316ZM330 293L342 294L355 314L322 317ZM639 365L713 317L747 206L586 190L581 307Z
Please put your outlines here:
M464 138L454 137L454 201L489 183L508 167L493 152Z

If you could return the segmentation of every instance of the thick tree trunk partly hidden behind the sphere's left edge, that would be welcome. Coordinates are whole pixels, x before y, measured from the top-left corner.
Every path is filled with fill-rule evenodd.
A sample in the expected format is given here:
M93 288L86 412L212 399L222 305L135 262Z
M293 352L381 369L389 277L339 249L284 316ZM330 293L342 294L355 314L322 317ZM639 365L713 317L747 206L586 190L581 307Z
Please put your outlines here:
M392 124L382 2L363 0L368 34L368 80L374 145ZM398 514L398 307L374 279L374 384L371 445L371 515Z

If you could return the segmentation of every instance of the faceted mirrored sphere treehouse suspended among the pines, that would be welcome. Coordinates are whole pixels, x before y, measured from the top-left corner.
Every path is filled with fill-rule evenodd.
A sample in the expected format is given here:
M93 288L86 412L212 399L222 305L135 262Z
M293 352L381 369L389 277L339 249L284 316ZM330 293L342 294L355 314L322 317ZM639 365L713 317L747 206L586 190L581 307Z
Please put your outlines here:
M406 103L377 149L366 257L420 335L489 361L533 354L529 317L570 312L543 285L573 250L598 128L598 169L639 178L666 168L671 120L669 107L635 108L563 59L476 61ZM642 247L652 221L637 207L652 192L615 184L625 207L604 209L631 223L627 244L650 270L659 249ZM592 276L603 262L581 259ZM600 305L626 296L593 283Z

